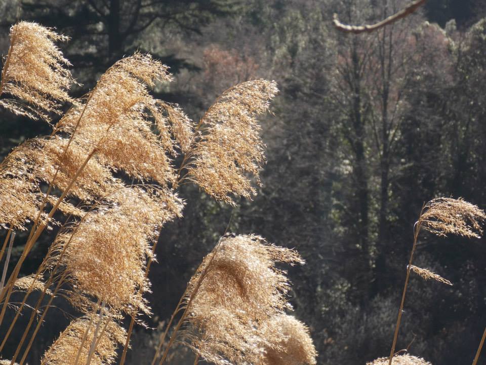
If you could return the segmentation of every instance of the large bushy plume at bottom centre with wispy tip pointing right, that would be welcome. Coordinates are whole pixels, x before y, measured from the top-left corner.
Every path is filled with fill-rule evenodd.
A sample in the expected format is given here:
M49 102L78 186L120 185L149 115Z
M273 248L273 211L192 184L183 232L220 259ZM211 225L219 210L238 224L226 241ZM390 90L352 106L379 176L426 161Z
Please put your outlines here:
M186 293L186 335L204 359L260 363L270 343L261 322L290 308L289 282L275 262L303 263L294 250L259 236L225 236L192 277Z

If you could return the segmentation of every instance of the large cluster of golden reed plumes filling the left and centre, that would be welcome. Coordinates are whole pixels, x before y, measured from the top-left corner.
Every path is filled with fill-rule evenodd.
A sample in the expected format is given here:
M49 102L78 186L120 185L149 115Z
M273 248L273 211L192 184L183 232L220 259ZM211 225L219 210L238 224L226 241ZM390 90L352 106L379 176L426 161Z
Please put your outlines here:
M88 94L73 99L69 62L55 42L67 38L36 23L19 22L0 85L0 105L42 119L51 135L27 140L0 165L0 224L8 230L0 284L0 324L12 293L24 290L4 349L27 299L41 291L15 354L1 363L24 364L55 297L81 314L45 352L42 364L111 364L140 314L150 314L144 293L160 229L182 216L177 188L194 182L213 198L256 193L264 159L256 116L277 92L274 82L253 80L225 91L199 123L178 105L154 98L149 88L171 81L168 68L136 53L111 66ZM71 106L66 113L62 107ZM54 116L61 116L53 121ZM178 157L180 158L178 159ZM182 160L176 167L176 161ZM250 177L249 177L250 176ZM131 184L128 183L131 181ZM64 218L59 218L62 212ZM36 273L19 278L38 237L61 228ZM29 229L27 241L6 278L15 232ZM215 363L314 364L307 327L285 314L289 283L275 262L303 263L289 249L258 236L224 236L203 261L167 326L182 309L169 345L157 349L163 363L183 325L181 339ZM41 304L49 298L47 306ZM37 320L36 317L38 316ZM120 325L125 316L128 331ZM33 330L32 330L33 327ZM30 335L30 336L28 336ZM160 346L166 342L161 339Z

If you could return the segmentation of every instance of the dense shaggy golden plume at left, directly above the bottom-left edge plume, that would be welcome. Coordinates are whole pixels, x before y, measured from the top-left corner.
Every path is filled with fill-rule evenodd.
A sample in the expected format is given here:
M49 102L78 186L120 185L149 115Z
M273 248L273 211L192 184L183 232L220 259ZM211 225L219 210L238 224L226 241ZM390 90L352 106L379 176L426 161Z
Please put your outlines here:
M149 290L150 242L161 225L180 214L180 200L155 188L125 188L109 199L113 203L58 236L55 244L64 253L59 260L74 284L74 302L87 294L114 310L148 313L142 294Z

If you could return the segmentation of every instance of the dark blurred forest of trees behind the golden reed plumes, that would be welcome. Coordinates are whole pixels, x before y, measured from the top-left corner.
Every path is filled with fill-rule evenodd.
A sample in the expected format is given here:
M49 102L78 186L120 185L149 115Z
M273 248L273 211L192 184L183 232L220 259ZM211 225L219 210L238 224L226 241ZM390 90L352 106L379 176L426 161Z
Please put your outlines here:
M232 208L184 186L185 217L163 231L158 264L150 271L154 315L146 321L156 330L136 329L130 364L151 361L160 327L229 222L229 231L295 247L307 261L289 272L291 302L310 327L319 364L363 365L388 355L422 204L452 196L486 208L486 5L429 0L418 13L371 34L346 35L332 27L333 13L345 22L370 23L404 5L0 1L4 55L19 9L20 19L71 37L61 48L82 84L74 87L76 96L135 50L171 66L175 81L155 93L179 103L193 120L237 82L266 78L281 90L274 116L261 120L268 163L253 201ZM25 138L49 131L1 111L2 158ZM31 253L24 274L37 267L49 239ZM414 340L410 352L434 365L471 363L486 325L485 262L484 239L420 237L416 264L454 286L411 279L397 349ZM69 321L68 305L56 305L30 364ZM11 351L3 355L9 358ZM479 363L486 364L486 354Z

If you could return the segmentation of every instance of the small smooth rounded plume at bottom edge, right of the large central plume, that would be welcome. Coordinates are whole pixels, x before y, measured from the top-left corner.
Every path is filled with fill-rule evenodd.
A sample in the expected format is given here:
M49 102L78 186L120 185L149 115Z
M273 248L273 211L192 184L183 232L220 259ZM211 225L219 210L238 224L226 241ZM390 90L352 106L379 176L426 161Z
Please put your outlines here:
M265 348L265 365L314 365L315 350L309 329L294 316L277 314L263 325L264 338L269 343Z

